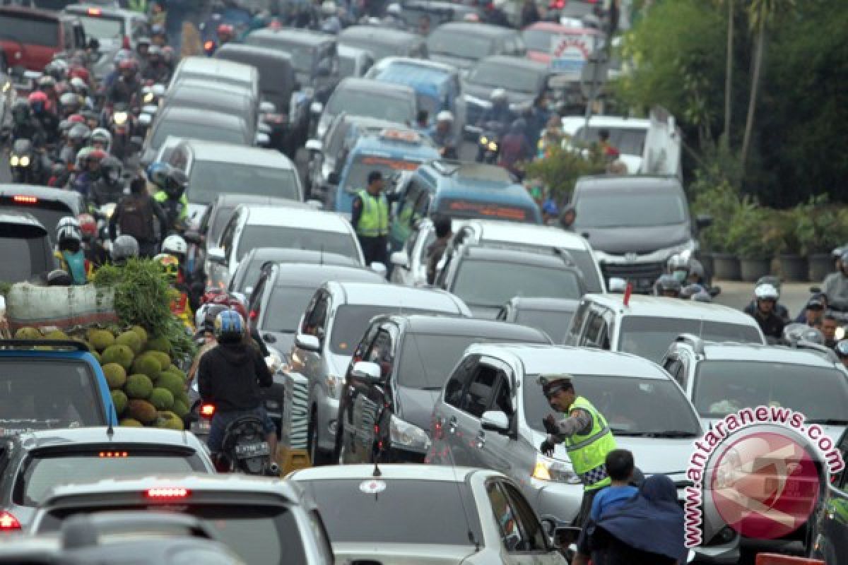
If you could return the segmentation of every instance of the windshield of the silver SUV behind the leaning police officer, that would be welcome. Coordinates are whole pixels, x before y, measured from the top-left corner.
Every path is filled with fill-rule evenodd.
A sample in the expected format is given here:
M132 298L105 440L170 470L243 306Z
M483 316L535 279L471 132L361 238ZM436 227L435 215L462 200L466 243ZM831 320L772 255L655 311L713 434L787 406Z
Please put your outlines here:
M672 379L573 375L574 391L592 402L616 435L700 435L695 411ZM538 375L527 375L521 390L527 424L545 433L543 419L553 413L538 384Z

